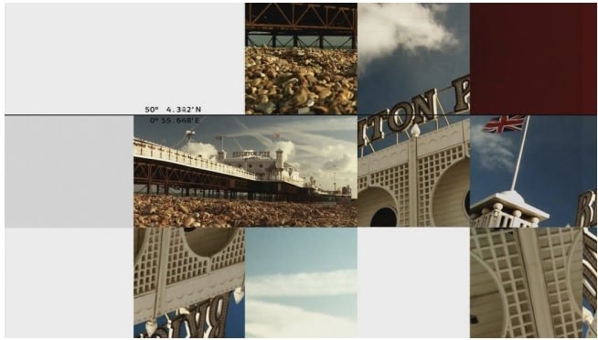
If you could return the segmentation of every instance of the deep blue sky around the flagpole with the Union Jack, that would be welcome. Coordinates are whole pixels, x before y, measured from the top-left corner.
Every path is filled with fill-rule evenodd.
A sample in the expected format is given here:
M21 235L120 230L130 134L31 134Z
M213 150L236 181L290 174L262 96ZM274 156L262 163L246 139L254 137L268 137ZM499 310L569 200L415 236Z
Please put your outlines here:
M471 118L471 203L508 190L522 132L483 133L492 116ZM577 197L596 188L596 117L532 116L515 190L550 214L544 227L575 222Z

